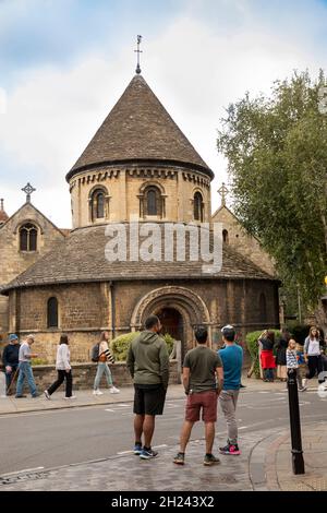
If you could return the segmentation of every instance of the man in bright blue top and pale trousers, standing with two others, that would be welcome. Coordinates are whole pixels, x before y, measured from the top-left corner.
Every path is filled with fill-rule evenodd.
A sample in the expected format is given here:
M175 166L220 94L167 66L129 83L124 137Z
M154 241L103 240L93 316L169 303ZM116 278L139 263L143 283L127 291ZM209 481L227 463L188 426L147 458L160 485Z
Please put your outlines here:
M241 454L238 441L237 405L242 378L243 349L234 342L235 330L228 324L221 330L225 348L218 351L223 368L223 387L219 404L227 422L227 445L219 448L221 454L238 456Z

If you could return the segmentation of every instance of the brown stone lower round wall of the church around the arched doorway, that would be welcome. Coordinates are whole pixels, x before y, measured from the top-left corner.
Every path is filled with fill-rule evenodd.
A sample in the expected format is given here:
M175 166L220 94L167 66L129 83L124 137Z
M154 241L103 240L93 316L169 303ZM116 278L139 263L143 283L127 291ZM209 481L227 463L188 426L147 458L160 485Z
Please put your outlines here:
M175 281L168 285L162 281L117 282L109 284L74 284L52 287L26 288L11 293L11 331L21 339L28 333L35 336L34 351L49 363L55 361L60 334L68 333L72 361L89 360L89 351L98 342L99 334L108 330L113 336L138 329L132 325L137 305L147 301L158 290L155 301L149 300L145 314L154 308L174 308L182 318L183 353L194 345L192 326L205 323L210 341L221 339L220 329L233 324L241 336L265 327L278 327L278 289L276 282L259 279ZM162 294L162 297L160 295ZM267 315L261 319L259 297L265 294ZM19 295L19 298L15 298ZM49 297L59 299L60 329L47 329L46 306ZM190 298L198 298L190 308ZM111 319L111 300L114 301L114 319ZM199 307L204 306L201 311ZM66 312L70 311L70 314ZM207 312L206 314L203 311ZM62 313L62 314L61 314ZM15 321L16 319L16 321ZM144 319L142 319L144 321Z

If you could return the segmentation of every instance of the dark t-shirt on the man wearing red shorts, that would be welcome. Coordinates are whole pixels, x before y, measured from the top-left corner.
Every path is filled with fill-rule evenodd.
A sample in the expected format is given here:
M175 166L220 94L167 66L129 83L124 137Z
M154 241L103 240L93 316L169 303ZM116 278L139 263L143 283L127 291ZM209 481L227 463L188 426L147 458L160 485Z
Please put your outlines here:
M197 346L186 353L184 367L190 369L190 391L193 393L217 389L216 368L221 358L207 346Z

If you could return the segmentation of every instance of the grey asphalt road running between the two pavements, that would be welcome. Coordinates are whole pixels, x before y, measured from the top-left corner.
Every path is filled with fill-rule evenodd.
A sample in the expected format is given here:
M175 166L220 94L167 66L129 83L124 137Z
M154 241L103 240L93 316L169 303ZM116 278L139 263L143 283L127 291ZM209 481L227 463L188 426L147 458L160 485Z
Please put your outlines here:
M316 392L300 395L302 421L327 420L327 399ZM157 418L154 446L175 445L179 440L184 398L168 401ZM242 432L289 426L286 392L242 391L238 418ZM0 417L0 475L34 468L100 460L131 451L133 440L131 403L76 407L53 411L11 414ZM217 423L219 443L226 441L221 413ZM192 440L203 438L203 425L194 427Z

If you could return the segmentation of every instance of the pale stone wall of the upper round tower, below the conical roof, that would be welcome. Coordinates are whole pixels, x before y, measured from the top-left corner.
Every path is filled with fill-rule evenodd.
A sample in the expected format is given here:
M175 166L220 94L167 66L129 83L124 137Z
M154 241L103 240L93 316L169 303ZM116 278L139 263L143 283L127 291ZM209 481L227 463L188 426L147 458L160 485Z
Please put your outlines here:
M204 220L209 223L210 180L207 176L178 167L153 166L102 166L99 169L80 172L71 179L71 198L73 208L73 227L92 224L89 196L96 187L107 190L109 207L106 222L120 223L140 218L140 191L145 184L157 184L165 195L166 215L164 219L171 223L193 220L193 196L202 193ZM104 223L104 219L99 220Z

